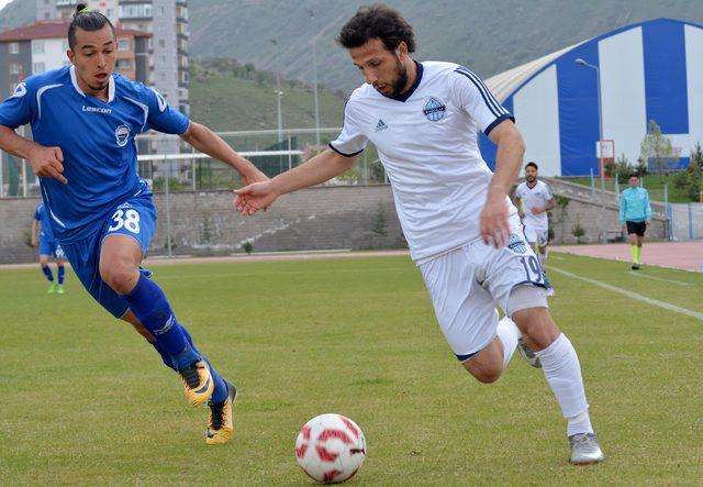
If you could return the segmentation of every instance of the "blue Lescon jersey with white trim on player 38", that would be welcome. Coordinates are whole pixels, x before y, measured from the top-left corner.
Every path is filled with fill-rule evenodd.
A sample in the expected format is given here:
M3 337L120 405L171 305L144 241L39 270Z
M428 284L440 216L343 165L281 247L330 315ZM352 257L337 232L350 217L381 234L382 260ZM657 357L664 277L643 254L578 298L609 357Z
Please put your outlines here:
M85 239L114 208L148 192L137 175L134 137L149 129L183 134L190 121L155 90L118 74L107 102L83 93L75 67L29 77L0 104L0 125L31 123L32 136L64 154L64 185L40 178L42 197L60 242Z

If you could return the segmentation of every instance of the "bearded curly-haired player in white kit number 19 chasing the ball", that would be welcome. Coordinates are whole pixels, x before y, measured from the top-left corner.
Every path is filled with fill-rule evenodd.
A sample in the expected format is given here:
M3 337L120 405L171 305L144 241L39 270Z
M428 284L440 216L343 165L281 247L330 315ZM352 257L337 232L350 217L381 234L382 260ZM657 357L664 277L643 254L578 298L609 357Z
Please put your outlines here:
M337 41L366 78L345 107L342 133L305 164L235 191L237 210L253 214L343 174L371 141L457 358L478 380L493 383L522 333L568 419L571 462L602 461L579 359L549 314L549 283L507 197L524 153L512 115L470 70L411 58L412 27L386 5L360 8ZM481 158L478 130L498 144L495 174ZM512 320L499 323L496 305Z

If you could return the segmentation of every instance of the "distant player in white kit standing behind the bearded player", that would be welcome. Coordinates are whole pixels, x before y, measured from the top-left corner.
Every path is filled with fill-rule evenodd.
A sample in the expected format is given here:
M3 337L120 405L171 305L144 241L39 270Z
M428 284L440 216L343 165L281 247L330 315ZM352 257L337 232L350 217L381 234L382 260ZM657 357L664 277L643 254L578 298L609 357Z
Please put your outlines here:
M551 210L556 203L549 186L537 179L538 170L536 163L527 163L525 166L525 180L515 189L515 206L521 208L518 214L525 226L525 239L537 253L539 263L544 267L549 243L547 211Z

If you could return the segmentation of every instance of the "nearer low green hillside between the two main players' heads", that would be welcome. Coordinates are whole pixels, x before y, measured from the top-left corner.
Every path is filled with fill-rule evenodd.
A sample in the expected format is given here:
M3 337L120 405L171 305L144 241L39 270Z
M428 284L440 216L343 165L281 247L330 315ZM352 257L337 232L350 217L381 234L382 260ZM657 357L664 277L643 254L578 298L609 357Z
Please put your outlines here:
M314 128L312 88L282 80L283 128ZM277 128L276 81L270 73L256 71L231 62L192 64L191 115L217 131ZM344 98L320 90L320 125L339 126Z

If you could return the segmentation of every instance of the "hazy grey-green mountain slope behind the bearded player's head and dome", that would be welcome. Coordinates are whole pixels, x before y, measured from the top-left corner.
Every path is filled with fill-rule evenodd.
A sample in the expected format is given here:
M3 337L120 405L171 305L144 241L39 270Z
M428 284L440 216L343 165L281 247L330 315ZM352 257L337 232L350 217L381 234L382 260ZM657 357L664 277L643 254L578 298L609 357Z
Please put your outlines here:
M334 37L360 0L190 0L191 55L235 57L349 91L361 77ZM421 59L451 60L488 77L622 25L658 16L703 23L700 0L389 0L415 26ZM315 20L310 19L314 10ZM279 59L269 38L277 38Z

